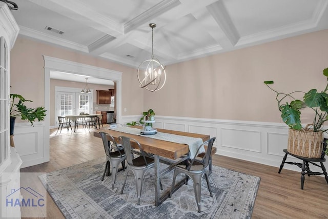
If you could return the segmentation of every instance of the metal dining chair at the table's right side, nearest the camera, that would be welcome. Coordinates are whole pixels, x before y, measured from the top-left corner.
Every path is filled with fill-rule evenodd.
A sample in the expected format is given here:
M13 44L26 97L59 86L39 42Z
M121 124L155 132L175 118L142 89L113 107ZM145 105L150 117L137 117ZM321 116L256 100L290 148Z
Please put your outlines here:
M186 174L186 184L188 183L188 177L190 177L191 180L193 181L195 199L196 199L196 203L197 203L197 207L198 207L198 212L200 212L200 191L201 191L201 179L202 179L203 175L205 175L205 177L206 177L206 182L207 182L208 189L210 191L210 195L211 195L211 197L213 197L212 190L211 190L210 183L209 183L209 177L208 177L209 170L207 167L210 163L211 150L212 150L214 141L215 141L215 137L212 137L210 140L204 142L203 144L201 144L198 147L197 152L195 153L194 157L187 156L187 157L183 158L181 161L179 161L179 163L174 166L173 182L172 182L172 187L171 187L169 197L172 197L172 193L175 191L174 186L175 186L176 176L180 173ZM200 148L202 148L202 146L204 146L206 144L208 144L207 151L206 151L205 155L202 157L202 160L199 161L196 159L198 151Z

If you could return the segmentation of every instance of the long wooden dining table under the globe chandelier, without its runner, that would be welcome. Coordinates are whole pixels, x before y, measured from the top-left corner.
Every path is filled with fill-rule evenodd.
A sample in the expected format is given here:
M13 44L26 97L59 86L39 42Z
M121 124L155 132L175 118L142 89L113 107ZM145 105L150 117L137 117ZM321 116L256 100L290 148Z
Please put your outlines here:
M140 129L141 126L133 126L133 128ZM174 164L180 160L179 158L183 155L186 155L189 153L189 146L186 144L179 144L174 142L168 142L163 140L157 140L155 138L150 138L147 135L135 135L135 134L129 134L125 132L115 131L114 129L109 130L101 130L102 132L106 132L110 135L112 135L115 139L115 141L119 142L118 137L119 136L127 136L130 138L134 138L137 140L142 150L154 154L154 160L155 160L155 205L159 206L162 202L164 202L168 197L170 191L166 191L165 194L160 196L160 186L159 186L159 178L162 175L165 175L168 173L171 169L174 168ZM173 131L173 130L167 130L167 129L157 129L157 132L163 132L168 134L174 134L174 135L182 135L182 136L189 136L189 137L196 137L201 138L203 142L210 139L210 135L205 134L197 134L197 133L190 133L190 132L181 132L181 131ZM94 132L95 136L100 136L99 132ZM131 144L132 147L138 148L137 145ZM163 159L169 158L168 159ZM169 166L166 169L160 170L159 163L166 163ZM182 186L185 183L185 181L181 181L176 185L176 189L178 189L180 186Z

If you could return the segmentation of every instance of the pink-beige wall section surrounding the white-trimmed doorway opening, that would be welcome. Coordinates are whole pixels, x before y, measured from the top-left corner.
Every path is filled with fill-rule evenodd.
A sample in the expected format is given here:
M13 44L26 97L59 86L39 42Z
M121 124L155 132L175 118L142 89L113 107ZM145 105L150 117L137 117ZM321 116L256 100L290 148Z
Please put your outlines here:
M128 109L127 112L122 112L122 115L142 112L144 92L139 88L136 69L82 52L39 43L19 35L11 50L10 92L31 99L33 103L29 103L28 107L44 106L43 55L122 72L122 108Z

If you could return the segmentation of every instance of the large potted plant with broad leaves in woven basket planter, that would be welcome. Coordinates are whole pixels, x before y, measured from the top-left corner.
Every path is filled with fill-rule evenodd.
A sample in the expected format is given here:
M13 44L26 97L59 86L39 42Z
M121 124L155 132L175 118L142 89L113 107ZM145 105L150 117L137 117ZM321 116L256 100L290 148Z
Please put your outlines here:
M328 68L323 69L323 75L328 79ZM324 122L328 120L328 83L323 91L318 92L317 89L311 89L308 92L294 91L291 93L280 93L270 85L274 84L273 81L264 81L276 95L278 102L278 109L281 112L282 121L290 127L289 130L289 145L288 151L305 157L318 158L322 152ZM304 93L303 99L296 99L293 97L296 93ZM288 102L286 98L290 98ZM313 110L314 118L312 124L305 127L301 124L301 109L309 108ZM298 137L302 136L302 139ZM309 147L310 149L304 149ZM321 150L320 150L321 148ZM328 153L328 150L325 151Z

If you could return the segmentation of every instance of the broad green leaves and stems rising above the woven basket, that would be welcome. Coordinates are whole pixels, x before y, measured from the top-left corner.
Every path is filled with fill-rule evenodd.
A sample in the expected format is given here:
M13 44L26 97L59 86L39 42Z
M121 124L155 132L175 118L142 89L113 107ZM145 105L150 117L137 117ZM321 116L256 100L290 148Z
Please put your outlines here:
M323 75L328 80L328 68L323 69ZM313 132L327 132L328 129L324 129L324 122L328 120L328 83L323 91L318 92L317 89L311 89L308 92L294 91L291 93L280 93L270 87L274 84L273 81L264 81L276 95L278 102L278 109L281 112L282 121L293 130L301 131L313 131ZM295 93L304 93L303 99L296 99L293 97ZM292 99L290 102L285 102L285 98ZM313 123L305 128L301 124L301 109L309 108L314 112ZM325 151L328 154L328 149Z

